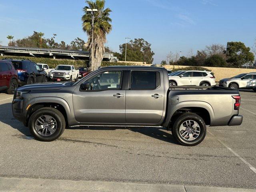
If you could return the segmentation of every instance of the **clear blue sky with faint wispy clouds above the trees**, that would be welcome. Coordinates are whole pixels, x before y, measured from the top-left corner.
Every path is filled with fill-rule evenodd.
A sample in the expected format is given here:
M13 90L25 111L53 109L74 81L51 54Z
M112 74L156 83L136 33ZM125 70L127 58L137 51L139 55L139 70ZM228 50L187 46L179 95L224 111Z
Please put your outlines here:
M82 31L84 0L0 0L0 42L44 32L70 43ZM213 43L242 41L253 46L256 38L256 0L106 0L112 10L113 29L107 45L119 51L125 37L144 38L152 44L154 63L168 52L186 56L190 49Z

